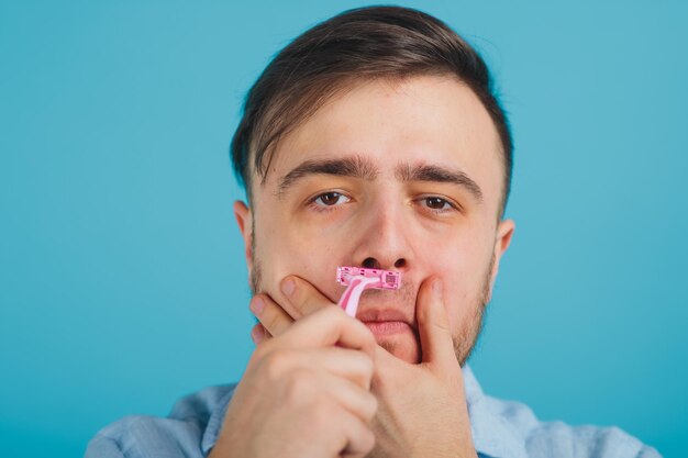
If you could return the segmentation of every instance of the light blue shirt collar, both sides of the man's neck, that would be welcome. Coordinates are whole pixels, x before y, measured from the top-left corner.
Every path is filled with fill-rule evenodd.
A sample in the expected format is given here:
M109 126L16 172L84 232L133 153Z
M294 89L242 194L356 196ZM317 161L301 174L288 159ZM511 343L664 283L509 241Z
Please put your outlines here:
M463 375L468 416L470 417L470 433L476 451L493 458L526 458L523 438L503 417L489 409L489 398L482 393L482 389L468 365L464 366ZM232 386L220 398L210 415L201 439L203 455L208 455L218 440L235 388L236 386Z

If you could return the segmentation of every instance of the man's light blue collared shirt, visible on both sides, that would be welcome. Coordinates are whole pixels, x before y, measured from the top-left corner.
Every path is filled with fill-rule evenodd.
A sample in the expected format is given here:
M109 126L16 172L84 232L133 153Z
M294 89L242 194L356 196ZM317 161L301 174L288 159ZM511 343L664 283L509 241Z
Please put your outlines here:
M657 450L618 427L540 422L524 404L484 394L468 366L463 372L473 442L479 457L659 457ZM86 458L206 457L218 439L234 387L212 387L188 395L165 418L122 418L96 435Z

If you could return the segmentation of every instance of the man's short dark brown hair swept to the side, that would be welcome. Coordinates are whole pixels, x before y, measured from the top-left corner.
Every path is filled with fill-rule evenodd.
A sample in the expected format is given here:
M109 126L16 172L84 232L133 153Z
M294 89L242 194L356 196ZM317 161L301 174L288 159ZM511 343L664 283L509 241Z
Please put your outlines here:
M251 200L251 160L265 180L276 145L333 96L362 80L453 75L480 99L503 153L503 215L511 188L513 145L487 65L445 23L401 7L345 11L308 30L268 64L248 91L232 138L234 171Z

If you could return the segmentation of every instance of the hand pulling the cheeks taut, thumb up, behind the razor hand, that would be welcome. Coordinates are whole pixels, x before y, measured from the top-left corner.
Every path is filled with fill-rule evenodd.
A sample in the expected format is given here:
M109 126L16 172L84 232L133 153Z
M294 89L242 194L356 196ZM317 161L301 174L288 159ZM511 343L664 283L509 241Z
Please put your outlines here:
M319 310L334 309L313 286L288 277L284 306L269 298L257 313L254 336L279 336ZM417 317L423 359L407 364L377 346L371 392L379 402L373 422L376 445L369 457L475 457L463 375L454 353L440 280L420 288ZM262 337L262 335L264 337Z

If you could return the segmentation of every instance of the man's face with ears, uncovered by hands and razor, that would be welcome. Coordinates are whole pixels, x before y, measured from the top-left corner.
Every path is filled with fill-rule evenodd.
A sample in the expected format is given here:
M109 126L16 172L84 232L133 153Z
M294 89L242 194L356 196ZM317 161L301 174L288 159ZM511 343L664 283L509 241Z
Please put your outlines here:
M337 266L400 271L401 289L364 292L357 317L418 362L418 291L439 277L463 364L513 232L498 224L502 176L493 123L456 79L356 86L284 137L253 208L235 205L254 292L285 303L279 282L297 275L337 302Z

